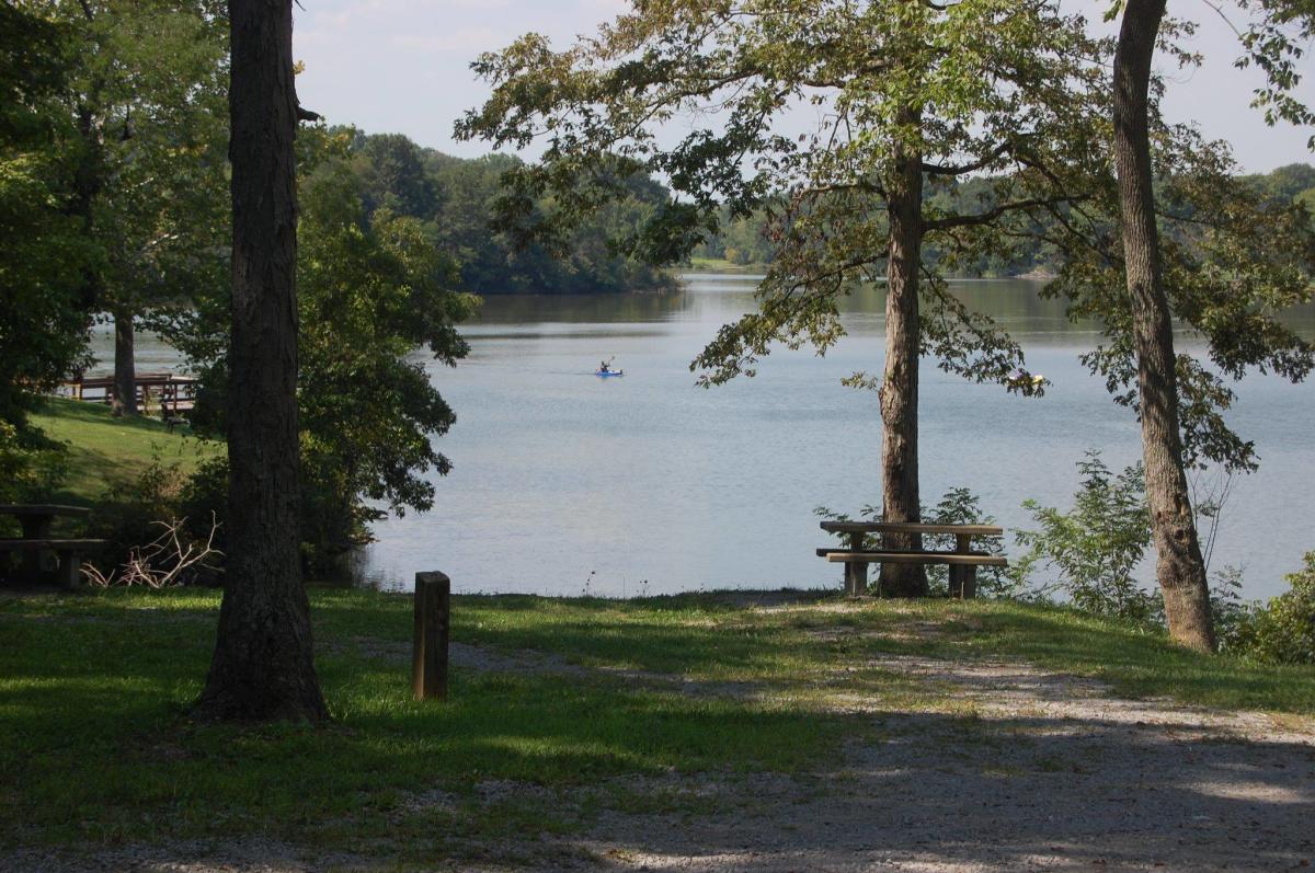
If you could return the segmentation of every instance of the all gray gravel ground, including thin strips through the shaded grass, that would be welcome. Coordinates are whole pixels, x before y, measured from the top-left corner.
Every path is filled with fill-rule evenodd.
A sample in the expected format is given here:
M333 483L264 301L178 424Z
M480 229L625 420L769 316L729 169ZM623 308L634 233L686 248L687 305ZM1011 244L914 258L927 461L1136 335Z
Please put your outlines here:
M406 647L371 653L408 659ZM588 672L543 652L454 646L471 669ZM1287 870L1315 862L1315 727L1307 719L1112 697L1097 681L1018 663L884 656L860 664L944 689L952 711L892 713L860 694L835 705L871 718L874 740L796 777L668 774L610 788L697 799L679 813L604 809L573 836L526 834L450 869L604 870ZM617 674L615 672L611 672ZM619 673L692 694L755 693L652 673ZM609 788L605 785L604 788ZM509 799L580 806L512 782ZM551 794L551 793L548 793ZM443 791L410 811L451 805ZM676 805L680 809L681 805ZM693 809L701 811L690 811ZM7 870L305 873L388 870L387 857L317 857L262 840L112 849L95 859L3 853Z

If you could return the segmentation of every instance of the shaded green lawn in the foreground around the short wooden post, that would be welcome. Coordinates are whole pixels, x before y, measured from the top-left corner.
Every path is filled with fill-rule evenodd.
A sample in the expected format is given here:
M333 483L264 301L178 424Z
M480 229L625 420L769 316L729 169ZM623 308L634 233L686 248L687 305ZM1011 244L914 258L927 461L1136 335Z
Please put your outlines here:
M1027 659L1130 694L1315 714L1315 669L1202 657L1066 610L836 605L458 597L454 640L522 668L455 667L451 699L422 705L409 694L410 598L314 588L334 720L310 728L189 719L214 592L0 594L0 847L387 840L423 865L479 839L579 830L590 810L698 802L636 780L815 772L846 738L880 734L888 713L961 714L970 730L952 689L865 665L892 653ZM855 694L874 706L836 705ZM489 799L502 784L538 793ZM584 801L558 803L563 791Z

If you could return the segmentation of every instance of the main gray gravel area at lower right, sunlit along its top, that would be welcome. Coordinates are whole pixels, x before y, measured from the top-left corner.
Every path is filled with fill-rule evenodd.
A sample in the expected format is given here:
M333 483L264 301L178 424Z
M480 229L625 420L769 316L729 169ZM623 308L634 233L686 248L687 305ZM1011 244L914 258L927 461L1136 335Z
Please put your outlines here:
M1315 859L1308 724L1112 698L1018 664L878 664L952 682L976 717L877 714L882 742L852 744L834 772L727 784L730 811L694 820L608 814L589 849L651 870L1283 870Z

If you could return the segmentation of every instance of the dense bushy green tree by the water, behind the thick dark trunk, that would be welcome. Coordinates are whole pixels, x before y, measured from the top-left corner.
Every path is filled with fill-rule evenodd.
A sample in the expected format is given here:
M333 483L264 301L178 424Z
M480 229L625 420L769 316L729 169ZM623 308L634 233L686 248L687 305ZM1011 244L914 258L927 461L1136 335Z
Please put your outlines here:
M414 352L423 347L455 366L467 352L456 325L477 304L455 291L456 266L419 220L387 206L367 214L346 139L317 129L299 138L301 532L312 563L367 538L385 510L431 506L426 475L451 467L434 438L456 417ZM196 304L175 317L171 334L203 373L195 425L222 434L227 300ZM226 479L224 467L206 467L191 498L222 507Z

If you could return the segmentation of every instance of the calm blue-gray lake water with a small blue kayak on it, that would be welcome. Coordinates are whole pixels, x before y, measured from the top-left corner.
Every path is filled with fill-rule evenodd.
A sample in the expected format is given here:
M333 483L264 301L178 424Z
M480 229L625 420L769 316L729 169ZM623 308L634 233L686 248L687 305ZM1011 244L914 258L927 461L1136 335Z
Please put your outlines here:
M756 377L701 389L689 362L753 309L756 281L685 280L669 296L488 298L463 331L471 356L431 366L458 414L439 444L455 469L437 481L431 511L376 525L359 577L409 588L417 571L438 569L460 592L602 596L839 586L839 568L814 556L831 542L814 509L880 502L876 393L840 385L856 369L881 372L880 289L847 301L848 335L825 358L782 348ZM1131 412L1077 360L1095 341L1090 325L1069 323L1035 283L953 288L1018 337L1053 385L1026 400L924 360L926 504L967 486L1005 527L1028 527L1024 500L1070 505L1084 450L1102 450L1112 469L1140 458ZM1315 337L1315 310L1293 323ZM625 376L596 377L613 356ZM1241 567L1245 594L1266 597L1315 550L1315 384L1256 375L1239 396L1230 422L1256 440L1261 469L1235 480L1211 568Z

